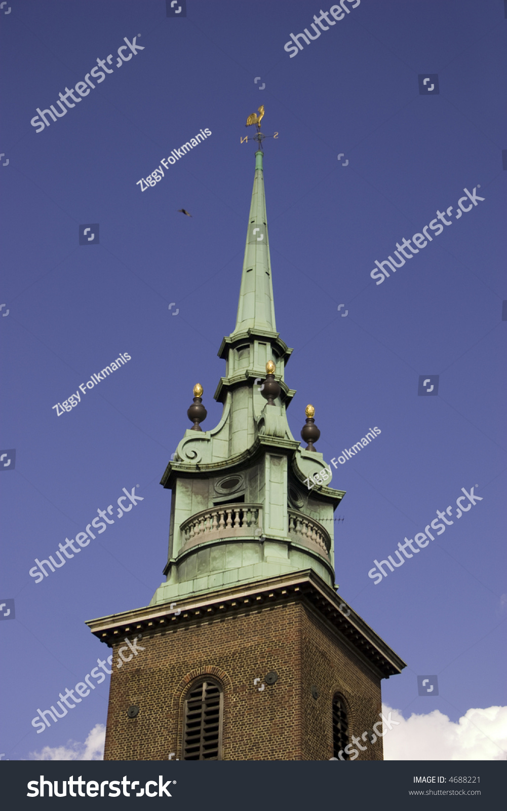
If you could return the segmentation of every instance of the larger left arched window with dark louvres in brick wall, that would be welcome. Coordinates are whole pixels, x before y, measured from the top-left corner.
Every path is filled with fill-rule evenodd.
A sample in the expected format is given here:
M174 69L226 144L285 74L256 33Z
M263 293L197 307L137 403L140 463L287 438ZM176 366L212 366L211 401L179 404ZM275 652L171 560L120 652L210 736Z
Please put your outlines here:
M198 680L185 700L183 760L222 759L223 693L215 681Z

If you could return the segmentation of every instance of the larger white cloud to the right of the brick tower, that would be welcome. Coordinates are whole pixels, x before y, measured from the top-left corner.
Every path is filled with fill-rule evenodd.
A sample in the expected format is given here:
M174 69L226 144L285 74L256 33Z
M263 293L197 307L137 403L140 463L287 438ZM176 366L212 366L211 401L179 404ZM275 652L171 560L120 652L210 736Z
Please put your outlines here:
M383 705L399 725L384 736L385 760L505 760L507 707L467 710L451 721L440 710L404 719L399 710Z

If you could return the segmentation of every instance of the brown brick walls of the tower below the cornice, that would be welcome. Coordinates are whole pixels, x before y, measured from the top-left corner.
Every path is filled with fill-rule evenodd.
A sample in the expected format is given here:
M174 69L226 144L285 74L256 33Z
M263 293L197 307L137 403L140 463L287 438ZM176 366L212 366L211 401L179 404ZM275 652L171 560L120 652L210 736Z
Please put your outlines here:
M302 595L143 631L144 650L118 669L123 638L113 643L104 760L181 758L185 695L205 675L224 691L224 760L328 760L336 692L347 703L349 737L379 720L380 674ZM278 680L259 692L272 670ZM140 708L134 719L130 705ZM362 745L357 759L381 760L381 739Z

